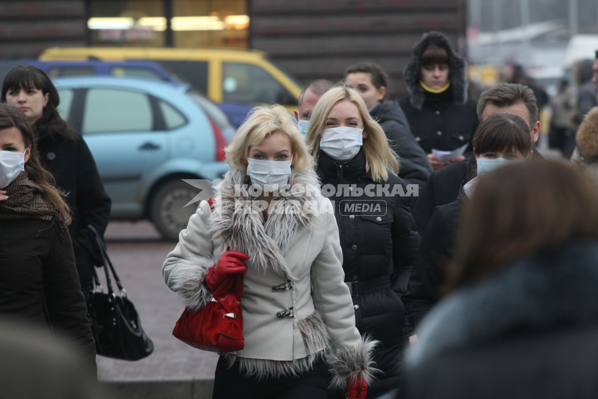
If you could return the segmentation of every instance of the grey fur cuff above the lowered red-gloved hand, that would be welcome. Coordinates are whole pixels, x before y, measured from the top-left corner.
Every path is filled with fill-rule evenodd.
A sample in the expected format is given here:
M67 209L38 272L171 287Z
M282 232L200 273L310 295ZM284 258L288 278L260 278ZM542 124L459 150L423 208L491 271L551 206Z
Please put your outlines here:
M379 341L371 340L368 337L362 337L361 342L355 346L340 345L329 349L326 354L326 360L332 380L332 388L346 388L347 381L355 379L357 376L370 385L375 379L374 373L380 371L373 360L374 348Z

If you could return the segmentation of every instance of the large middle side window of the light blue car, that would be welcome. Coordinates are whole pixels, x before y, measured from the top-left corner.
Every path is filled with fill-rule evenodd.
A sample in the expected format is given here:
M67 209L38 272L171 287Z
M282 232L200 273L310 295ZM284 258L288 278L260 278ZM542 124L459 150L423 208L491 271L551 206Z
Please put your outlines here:
M81 132L147 132L154 126L149 97L121 89L87 90Z

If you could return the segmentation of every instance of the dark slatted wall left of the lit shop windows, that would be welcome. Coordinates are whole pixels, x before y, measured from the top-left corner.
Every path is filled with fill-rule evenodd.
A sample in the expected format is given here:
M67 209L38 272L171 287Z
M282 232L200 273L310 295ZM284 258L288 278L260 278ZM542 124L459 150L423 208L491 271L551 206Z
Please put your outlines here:
M84 46L84 0L0 0L0 58L37 57L47 47Z

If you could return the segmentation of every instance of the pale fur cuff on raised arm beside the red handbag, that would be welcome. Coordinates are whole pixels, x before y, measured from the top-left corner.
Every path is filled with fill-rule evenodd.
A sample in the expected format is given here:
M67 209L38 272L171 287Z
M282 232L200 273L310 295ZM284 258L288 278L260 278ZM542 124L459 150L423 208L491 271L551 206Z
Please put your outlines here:
M170 289L181 296L189 310L203 309L212 297L203 279L213 264L212 257L185 258L170 273Z

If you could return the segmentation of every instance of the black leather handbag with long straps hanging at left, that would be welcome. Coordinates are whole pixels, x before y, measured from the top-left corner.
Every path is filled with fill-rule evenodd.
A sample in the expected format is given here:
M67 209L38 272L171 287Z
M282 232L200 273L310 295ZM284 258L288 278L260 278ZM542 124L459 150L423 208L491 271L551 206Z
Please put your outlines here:
M116 270L108 257L106 246L93 226L88 226L96 236L99 253L102 254L103 268L106 273L108 293L105 293L95 268L93 268L93 290L87 304L87 317L91 324L91 333L96 340L98 355L121 359L139 360L154 351L154 343L141 327L141 320L135 305L127 299L127 291L118 278ZM120 294L112 290L110 273L118 286Z

